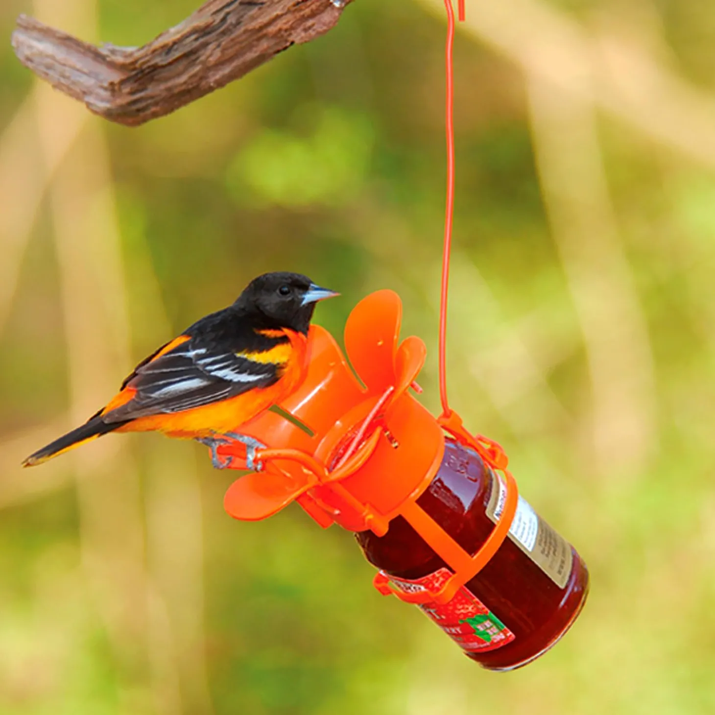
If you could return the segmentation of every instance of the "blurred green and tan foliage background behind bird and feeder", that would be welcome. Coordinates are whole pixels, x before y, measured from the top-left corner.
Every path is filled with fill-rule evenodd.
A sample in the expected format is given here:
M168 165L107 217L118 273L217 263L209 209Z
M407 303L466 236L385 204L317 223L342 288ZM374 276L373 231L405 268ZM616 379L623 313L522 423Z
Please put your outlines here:
M34 83L20 12L135 45L190 0L0 6L0 714L715 711L715 7L468 0L455 44L453 406L591 568L572 631L482 671L349 533L222 511L157 435L19 462L265 270L405 302L438 409L439 0L340 24L127 129Z

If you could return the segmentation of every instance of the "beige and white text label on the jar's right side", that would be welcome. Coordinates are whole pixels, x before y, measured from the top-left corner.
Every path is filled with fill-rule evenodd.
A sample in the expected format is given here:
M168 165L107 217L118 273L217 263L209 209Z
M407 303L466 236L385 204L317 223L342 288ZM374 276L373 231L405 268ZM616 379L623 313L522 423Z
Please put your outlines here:
M487 516L496 523L504 511L506 484L501 476L493 471L491 475L492 493ZM514 521L509 528L509 538L541 568L541 571L546 573L546 576L551 578L551 581L556 583L556 586L559 588L566 586L573 566L571 545L548 526L521 495L516 506Z

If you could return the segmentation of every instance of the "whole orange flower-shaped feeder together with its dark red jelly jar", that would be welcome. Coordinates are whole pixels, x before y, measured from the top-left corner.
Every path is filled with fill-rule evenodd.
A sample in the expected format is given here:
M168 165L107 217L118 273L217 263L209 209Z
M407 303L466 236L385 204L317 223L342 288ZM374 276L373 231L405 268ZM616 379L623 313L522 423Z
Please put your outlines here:
M518 495L497 443L410 394L426 350L418 337L399 342L401 314L398 295L381 290L348 318L345 349L363 384L330 333L311 327L307 378L280 405L295 421L268 412L242 425L267 446L225 508L257 521L297 501L320 526L357 532L380 593L415 603L486 668L513 669L573 623L588 571ZM246 468L241 443L218 452Z

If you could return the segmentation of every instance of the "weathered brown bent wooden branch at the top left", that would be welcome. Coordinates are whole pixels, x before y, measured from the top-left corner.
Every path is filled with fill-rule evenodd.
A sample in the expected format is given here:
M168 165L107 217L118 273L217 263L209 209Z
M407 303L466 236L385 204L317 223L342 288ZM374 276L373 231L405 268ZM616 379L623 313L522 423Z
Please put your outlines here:
M142 47L95 47L25 16L12 45L55 89L136 126L242 77L334 26L351 0L208 0Z

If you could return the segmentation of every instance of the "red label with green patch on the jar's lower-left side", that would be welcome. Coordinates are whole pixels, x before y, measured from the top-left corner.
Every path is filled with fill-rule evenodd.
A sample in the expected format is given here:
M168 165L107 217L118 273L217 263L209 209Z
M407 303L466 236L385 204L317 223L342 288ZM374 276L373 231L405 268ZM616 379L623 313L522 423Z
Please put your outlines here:
M419 593L427 589L438 591L453 573L440 568L414 581L385 575L400 591ZM493 651L514 640L514 634L466 586L462 586L449 603L428 601L417 606L468 653Z

